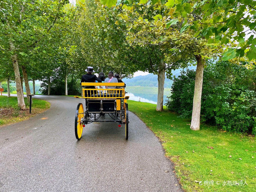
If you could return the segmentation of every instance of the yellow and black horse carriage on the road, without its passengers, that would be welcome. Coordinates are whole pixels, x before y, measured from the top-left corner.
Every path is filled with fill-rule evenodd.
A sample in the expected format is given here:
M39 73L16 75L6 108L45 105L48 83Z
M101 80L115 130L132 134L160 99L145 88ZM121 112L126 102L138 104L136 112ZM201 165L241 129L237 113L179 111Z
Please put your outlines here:
M88 88L94 87L96 88ZM98 88L105 86L105 88ZM115 87L115 88L107 88ZM86 88L87 87L87 88ZM74 96L75 98L84 98L85 107L79 103L75 115L75 135L80 140L86 124L92 122L118 122L118 127L125 124L125 138L128 140L128 104L125 96L124 83L82 83L83 96ZM106 120L105 115L110 116ZM102 119L101 117L104 117Z

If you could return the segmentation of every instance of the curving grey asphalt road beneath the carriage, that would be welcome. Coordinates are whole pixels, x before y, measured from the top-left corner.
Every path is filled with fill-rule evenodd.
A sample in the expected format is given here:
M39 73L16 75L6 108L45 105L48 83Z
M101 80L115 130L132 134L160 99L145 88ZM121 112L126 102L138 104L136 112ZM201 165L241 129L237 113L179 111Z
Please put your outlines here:
M131 112L128 141L124 126L112 122L87 125L77 141L75 110L84 100L34 98L51 108L0 127L1 192L182 192L158 138Z

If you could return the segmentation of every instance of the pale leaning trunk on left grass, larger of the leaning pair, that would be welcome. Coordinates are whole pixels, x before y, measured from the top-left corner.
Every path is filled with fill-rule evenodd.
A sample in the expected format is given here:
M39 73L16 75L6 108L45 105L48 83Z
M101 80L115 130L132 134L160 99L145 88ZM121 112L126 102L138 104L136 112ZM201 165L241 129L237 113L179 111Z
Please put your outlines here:
M10 43L10 48L13 51L15 49L12 42ZM20 107L20 109L25 110L26 106L25 106L25 102L24 102L24 96L23 96L23 91L22 91L22 86L21 86L21 81L20 81L20 70L19 70L19 65L18 65L18 60L17 60L17 54L16 53L14 53L12 55L12 65L13 65L14 74L15 74L18 106Z

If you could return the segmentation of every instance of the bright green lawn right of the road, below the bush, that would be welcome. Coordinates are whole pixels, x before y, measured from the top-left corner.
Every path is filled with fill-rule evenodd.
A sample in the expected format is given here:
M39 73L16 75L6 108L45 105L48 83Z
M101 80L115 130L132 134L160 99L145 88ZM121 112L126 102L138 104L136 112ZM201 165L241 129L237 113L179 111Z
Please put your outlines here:
M128 100L128 106L162 140L185 191L256 191L255 137L204 124L199 131L192 131L190 120L166 110L156 112L154 104ZM248 185L233 185L245 179ZM210 181L214 184L209 185Z

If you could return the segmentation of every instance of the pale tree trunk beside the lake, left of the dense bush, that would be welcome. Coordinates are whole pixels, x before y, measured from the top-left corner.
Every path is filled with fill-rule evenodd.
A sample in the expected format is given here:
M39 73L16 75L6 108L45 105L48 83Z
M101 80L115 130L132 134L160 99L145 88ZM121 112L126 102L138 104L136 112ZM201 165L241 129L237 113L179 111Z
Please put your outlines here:
M158 94L157 94L157 104L156 111L163 110L164 104L164 79L165 79L165 63L163 60L160 62L159 70L158 70Z

